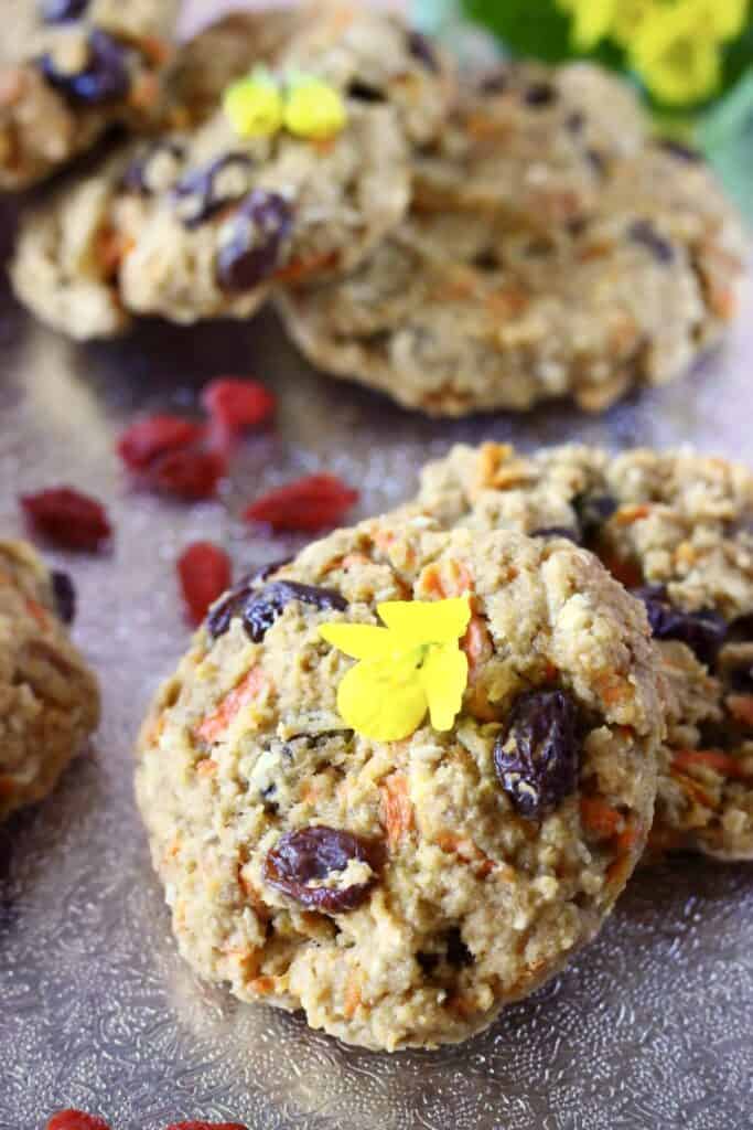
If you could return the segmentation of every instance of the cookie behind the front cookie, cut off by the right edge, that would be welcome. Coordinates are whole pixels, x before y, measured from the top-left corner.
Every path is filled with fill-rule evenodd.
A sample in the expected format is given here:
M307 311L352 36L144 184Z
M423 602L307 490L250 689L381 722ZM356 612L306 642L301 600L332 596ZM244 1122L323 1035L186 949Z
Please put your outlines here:
M689 452L458 446L418 505L450 528L580 541L643 600L668 729L650 846L753 859L753 475Z

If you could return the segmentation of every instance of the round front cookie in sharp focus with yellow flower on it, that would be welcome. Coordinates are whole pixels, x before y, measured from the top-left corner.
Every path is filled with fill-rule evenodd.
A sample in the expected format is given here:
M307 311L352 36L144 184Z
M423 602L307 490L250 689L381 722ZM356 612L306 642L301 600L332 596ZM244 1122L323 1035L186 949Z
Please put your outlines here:
M464 594L449 729L420 707L403 740L362 737L322 626ZM181 953L349 1043L461 1041L611 911L660 727L645 611L593 555L420 514L338 531L216 605L145 723L137 796Z

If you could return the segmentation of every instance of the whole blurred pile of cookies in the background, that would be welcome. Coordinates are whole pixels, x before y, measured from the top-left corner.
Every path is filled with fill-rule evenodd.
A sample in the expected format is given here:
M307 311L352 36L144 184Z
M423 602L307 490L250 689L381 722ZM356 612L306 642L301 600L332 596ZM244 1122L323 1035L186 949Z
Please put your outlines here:
M23 226L16 290L61 331L246 319L273 297L325 372L456 416L602 410L729 322L737 218L622 81L457 75L396 17L339 2L231 16L166 62L169 7L47 2L43 54L3 80L7 185L131 131ZM280 105L305 86L301 124ZM67 122L54 153L45 99Z

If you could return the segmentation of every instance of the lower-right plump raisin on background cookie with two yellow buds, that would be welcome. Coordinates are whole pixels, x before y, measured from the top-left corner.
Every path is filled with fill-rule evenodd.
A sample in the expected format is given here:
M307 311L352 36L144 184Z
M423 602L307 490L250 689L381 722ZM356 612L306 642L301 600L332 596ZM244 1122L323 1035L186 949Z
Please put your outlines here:
M255 189L235 214L233 234L217 259L224 290L243 293L270 278L280 266L292 228L292 209L277 192Z

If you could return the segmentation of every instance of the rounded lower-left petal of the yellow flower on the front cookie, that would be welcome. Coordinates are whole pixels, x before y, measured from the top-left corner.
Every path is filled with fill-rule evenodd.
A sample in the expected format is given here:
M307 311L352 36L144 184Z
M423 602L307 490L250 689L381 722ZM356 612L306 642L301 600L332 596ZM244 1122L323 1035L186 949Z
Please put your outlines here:
M400 741L423 721L427 696L414 666L371 659L348 671L338 688L338 710L362 737Z

